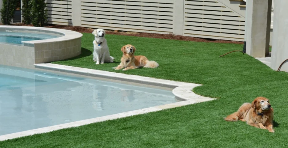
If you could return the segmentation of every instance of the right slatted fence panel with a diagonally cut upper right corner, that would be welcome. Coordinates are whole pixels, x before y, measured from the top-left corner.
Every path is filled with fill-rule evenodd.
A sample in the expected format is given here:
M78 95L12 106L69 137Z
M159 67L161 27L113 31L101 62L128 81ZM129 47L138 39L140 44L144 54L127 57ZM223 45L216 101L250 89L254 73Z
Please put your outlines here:
M217 0L185 0L184 36L244 41L245 18Z

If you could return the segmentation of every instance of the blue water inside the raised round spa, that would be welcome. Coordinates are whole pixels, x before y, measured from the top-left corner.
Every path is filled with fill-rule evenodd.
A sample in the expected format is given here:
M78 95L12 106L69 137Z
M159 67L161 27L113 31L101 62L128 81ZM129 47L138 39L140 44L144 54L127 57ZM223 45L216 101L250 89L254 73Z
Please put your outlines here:
M22 41L52 39L57 36L21 32L0 32L0 42L21 44Z

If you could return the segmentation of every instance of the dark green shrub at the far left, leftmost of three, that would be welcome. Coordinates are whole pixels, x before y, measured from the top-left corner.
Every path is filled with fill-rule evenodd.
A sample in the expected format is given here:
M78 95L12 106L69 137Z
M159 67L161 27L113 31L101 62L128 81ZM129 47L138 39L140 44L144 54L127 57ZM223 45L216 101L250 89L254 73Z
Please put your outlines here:
M17 0L3 0L3 8L0 10L1 22L4 25L10 25L11 19L14 17L17 6Z

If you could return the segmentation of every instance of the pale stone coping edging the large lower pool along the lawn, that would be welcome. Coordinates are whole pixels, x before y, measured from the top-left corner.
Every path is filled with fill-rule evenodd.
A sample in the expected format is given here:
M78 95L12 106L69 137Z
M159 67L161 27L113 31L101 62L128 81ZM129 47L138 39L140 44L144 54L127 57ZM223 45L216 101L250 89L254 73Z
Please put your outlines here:
M64 129L64 128L78 127L78 126L106 121L106 120L113 120L113 119L118 119L118 118L123 118L123 117L128 117L128 116L145 114L148 112L156 112L156 111L160 111L160 110L168 109L168 108L175 108L175 107L215 100L215 98L203 97L192 91L194 87L201 86L200 84L176 82L176 81L170 81L170 80L162 80L162 79L156 79L156 78L120 74L120 73L114 73L114 72L108 72L108 71L102 71L102 70L92 70L92 69L64 66L64 65L51 64L51 63L34 64L34 66L36 69L46 70L46 71L54 72L54 73L62 73L62 74L78 75L78 76L81 75L81 76L89 77L89 78L92 77L92 78L97 78L97 79L102 79L102 80L103 79L110 80L113 82L126 83L130 85L140 85L144 87L150 86L154 88L162 88L162 89L166 88L166 89L172 90L172 93L175 95L175 99L177 99L179 102L154 106L150 108L138 109L138 110L134 110L130 112L122 112L122 113L118 113L114 115L102 116L102 117L97 117L97 118L92 118L92 119L87 119L87 120L59 124L59 125L54 125L54 126L49 126L49 127L43 127L43 128L33 129L29 131L22 131L22 132L7 134L7 135L1 135L0 141L22 137L22 136L46 133L46 132L55 131L55 130Z

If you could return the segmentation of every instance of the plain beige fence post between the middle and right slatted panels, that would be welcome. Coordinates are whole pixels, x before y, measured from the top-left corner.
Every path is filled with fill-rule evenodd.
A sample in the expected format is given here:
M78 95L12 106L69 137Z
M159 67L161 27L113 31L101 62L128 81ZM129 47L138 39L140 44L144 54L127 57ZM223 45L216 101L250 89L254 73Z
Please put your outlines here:
M174 0L174 35L183 35L184 26L184 1L185 0Z

